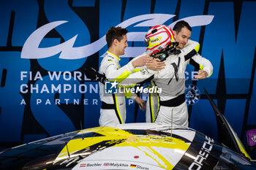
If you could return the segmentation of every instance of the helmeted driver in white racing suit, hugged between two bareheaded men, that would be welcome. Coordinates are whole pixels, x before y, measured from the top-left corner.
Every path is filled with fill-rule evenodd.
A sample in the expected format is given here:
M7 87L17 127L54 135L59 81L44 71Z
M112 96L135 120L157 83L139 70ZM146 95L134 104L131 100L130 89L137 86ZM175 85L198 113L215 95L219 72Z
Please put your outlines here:
M168 38L166 38L168 36ZM208 75L212 72L212 65L200 55L187 53L185 50L173 50L170 55L166 56L162 50L171 47L175 42L173 31L167 26L154 26L148 31L146 35L148 41L147 53L155 56L165 56L165 69L159 72L153 72L150 69L143 69L141 72L130 74L130 76L121 83L127 84L129 80L143 81L154 74L153 82L157 88L161 88L159 98L154 97L151 101L157 102L159 100L158 115L155 120L156 123L168 123L173 125L188 126L188 112L185 101L185 70L188 63L193 63L194 66L204 69ZM191 43L186 50L197 49L198 43ZM189 47L190 46L190 47ZM185 55L186 54L186 55ZM193 58L192 58L193 56ZM205 66L203 68L203 66ZM132 82L131 82L132 83ZM148 98L150 100L150 98ZM155 111L158 107L152 107Z

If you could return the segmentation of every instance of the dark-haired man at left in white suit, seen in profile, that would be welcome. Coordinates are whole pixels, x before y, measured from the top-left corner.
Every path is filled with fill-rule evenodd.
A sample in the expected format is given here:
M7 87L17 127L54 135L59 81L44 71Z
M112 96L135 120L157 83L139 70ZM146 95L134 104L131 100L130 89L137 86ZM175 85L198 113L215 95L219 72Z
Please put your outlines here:
M104 54L104 58L99 67L99 73L105 74L108 81L111 82L111 87L121 82L135 71L135 67L145 66L152 60L148 55L140 56L121 67L119 64L119 55L124 55L124 49L127 44L127 29L121 27L112 27L106 34L108 43L108 51ZM162 64L157 63L158 69L161 69ZM109 89L110 90L110 89ZM99 125L116 125L125 123L126 120L126 103L124 93L105 93L105 85L99 82L99 97L102 101L100 109ZM143 101L136 95L130 96L138 104ZM145 104L146 107L146 104Z

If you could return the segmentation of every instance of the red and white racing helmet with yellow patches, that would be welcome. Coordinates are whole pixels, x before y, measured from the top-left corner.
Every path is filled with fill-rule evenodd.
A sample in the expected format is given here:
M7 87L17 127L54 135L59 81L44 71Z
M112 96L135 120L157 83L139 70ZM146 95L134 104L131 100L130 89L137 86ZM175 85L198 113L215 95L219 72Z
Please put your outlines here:
M154 26L146 34L147 52L149 55L159 53L171 42L175 42L173 30L165 25Z

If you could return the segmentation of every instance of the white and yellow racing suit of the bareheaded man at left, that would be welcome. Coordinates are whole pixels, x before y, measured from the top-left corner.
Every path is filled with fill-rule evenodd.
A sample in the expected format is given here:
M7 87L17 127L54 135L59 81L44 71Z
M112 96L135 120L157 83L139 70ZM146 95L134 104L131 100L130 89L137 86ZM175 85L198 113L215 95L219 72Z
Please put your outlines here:
M131 74L135 68L132 61L121 67L120 58L107 51L99 67L99 73L105 74L106 78L114 82L121 82ZM130 98L135 99L135 95ZM100 109L99 125L116 125L125 123L126 104L124 93L106 94L105 85L99 82L99 98L102 101Z

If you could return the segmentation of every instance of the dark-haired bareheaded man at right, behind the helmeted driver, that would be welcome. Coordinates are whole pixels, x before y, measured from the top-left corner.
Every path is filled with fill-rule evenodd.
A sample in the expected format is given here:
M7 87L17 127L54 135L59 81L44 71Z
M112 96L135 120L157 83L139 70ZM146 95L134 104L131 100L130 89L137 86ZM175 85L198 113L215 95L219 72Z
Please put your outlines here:
M189 23L184 20L178 21L173 27L173 33L176 37L176 42L179 43L178 49L184 52L186 62L197 67L197 69L200 69L197 77L195 78L205 79L206 77L210 77L213 72L213 66L210 61L198 54L198 50L200 48L199 43L189 39L192 33L192 28L189 26ZM151 87L154 86L154 82L151 81ZM146 104L146 122L154 123L158 110L158 94L149 93Z

